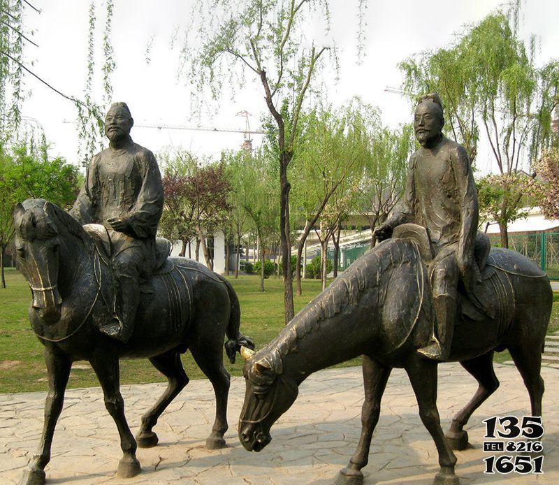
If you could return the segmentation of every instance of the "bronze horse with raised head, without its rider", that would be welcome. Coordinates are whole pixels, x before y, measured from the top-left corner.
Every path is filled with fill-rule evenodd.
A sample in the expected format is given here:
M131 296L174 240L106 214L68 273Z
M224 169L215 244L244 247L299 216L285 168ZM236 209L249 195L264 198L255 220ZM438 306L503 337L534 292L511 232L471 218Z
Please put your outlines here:
M230 382L223 365L224 336L229 339L225 347L232 362L241 345L254 348L252 340L239 332L240 307L231 284L196 261L166 259L142 287L134 332L124 344L99 331L100 322L109 318L113 297L106 284L112 275L102 244L64 210L42 199L18 204L14 219L20 270L33 294L29 319L45 346L49 377L41 443L22 482L45 483L44 468L50 461L71 365L79 360L91 363L117 425L123 451L117 469L120 477L140 472L136 440L140 447L157 444L153 426L189 382L180 361L187 349L215 391L216 417L206 447L224 447ZM149 359L167 377L168 387L143 415L135 440L124 417L119 359L138 358Z

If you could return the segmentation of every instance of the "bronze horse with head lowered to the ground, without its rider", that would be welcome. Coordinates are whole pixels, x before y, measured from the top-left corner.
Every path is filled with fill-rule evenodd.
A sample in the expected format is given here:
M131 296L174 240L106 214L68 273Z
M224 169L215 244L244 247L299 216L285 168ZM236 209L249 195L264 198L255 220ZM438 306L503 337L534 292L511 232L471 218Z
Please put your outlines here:
M433 318L428 271L421 256L424 243L393 238L377 245L296 314L275 340L256 354L248 353L239 421L245 449L260 451L270 442L270 427L291 407L299 384L312 372L359 355L365 386L361 438L338 475L339 484L363 482L361 468L368 463L372 432L393 368L407 372L421 421L435 441L438 484L458 483L452 449L467 446L463 427L499 386L493 372L495 350L509 349L528 389L532 415L541 416L540 363L553 301L551 285L542 270L521 254L494 248L481 273L480 288L494 302L491 316L479 310L475 314L471 308L470 317L463 314L456 322L449 357L459 361L479 386L453 417L445 437L436 403L437 361L417 352L430 338Z

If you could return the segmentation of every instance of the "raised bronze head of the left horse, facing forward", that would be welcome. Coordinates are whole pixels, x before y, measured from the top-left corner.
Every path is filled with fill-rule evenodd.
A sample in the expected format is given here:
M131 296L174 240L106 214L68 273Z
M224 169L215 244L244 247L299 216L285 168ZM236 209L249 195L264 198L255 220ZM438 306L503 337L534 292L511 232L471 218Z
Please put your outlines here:
M68 249L61 237L63 217L71 219L57 205L43 199L27 199L14 211L19 268L31 287L32 306L45 324L55 324L61 316L59 268L61 251L66 254Z

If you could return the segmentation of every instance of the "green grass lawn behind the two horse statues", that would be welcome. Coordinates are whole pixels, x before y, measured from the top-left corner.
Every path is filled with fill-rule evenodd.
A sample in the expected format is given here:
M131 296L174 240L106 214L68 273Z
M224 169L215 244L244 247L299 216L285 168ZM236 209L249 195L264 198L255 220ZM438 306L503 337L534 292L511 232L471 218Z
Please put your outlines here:
M7 288L0 288L0 393L22 391L45 391L47 372L43 361L43 345L29 326L27 307L31 293L27 282L15 270L6 270ZM259 291L256 276L243 275L235 280L230 277L240 300L241 331L249 335L260 349L281 331L283 317L283 284L275 277L266 280L266 291ZM303 296L295 296L296 312L303 308L320 292L318 280L303 281ZM559 331L559 295L554 298L553 313L549 333ZM496 361L510 359L507 352L498 354ZM187 353L182 357L184 368L191 379L204 377L201 370ZM358 365L360 359L342 365ZM226 368L232 375L241 375L242 359L235 364L226 361ZM147 359L126 360L121 363L122 384L141 382L161 382L164 377L153 368ZM98 386L91 369L73 369L69 387Z

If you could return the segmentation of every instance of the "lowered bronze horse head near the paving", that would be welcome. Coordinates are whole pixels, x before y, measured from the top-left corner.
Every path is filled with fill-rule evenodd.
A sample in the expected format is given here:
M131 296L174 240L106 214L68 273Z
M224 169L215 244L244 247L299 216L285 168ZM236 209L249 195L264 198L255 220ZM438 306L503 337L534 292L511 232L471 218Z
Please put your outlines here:
M261 351L245 363L245 402L239 418L239 438L247 451L261 451L272 440L270 428L289 410L298 384L282 372L277 352Z

